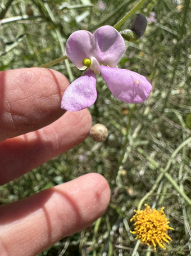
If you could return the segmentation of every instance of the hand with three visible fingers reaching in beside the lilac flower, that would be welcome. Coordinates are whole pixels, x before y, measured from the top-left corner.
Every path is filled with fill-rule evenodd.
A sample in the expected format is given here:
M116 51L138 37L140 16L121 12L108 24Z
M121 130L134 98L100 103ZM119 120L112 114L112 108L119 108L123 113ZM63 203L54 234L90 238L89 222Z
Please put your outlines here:
M0 72L0 185L82 142L87 109L60 109L67 78L43 68ZM65 113L66 112L66 113ZM0 206L1 256L37 255L98 219L110 200L106 179L89 173Z

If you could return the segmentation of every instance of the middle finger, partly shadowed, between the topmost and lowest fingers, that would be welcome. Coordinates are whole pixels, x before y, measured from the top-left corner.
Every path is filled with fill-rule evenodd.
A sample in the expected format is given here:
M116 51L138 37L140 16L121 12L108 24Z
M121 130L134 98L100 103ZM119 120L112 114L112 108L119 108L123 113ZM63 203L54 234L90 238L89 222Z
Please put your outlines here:
M87 109L66 112L47 127L0 142L0 185L78 145L91 126Z

